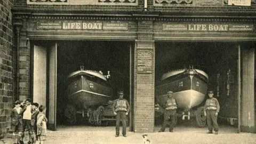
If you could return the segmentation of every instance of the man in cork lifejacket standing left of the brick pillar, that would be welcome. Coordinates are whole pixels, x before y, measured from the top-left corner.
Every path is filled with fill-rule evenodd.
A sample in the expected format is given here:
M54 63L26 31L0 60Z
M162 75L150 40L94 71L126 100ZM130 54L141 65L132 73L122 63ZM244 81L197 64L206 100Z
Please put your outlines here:
M116 115L116 137L119 136L119 125L122 118L123 136L126 137L126 116L129 114L130 106L126 99L123 99L124 92L117 92L119 98L113 103L113 112Z

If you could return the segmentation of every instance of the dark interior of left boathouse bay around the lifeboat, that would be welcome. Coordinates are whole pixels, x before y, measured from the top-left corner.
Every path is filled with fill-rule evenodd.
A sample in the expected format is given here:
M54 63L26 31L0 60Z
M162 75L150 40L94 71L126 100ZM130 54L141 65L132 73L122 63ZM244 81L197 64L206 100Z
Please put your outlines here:
M118 98L118 91L123 91L124 98L130 101L130 46L130 42L121 41L59 42L57 112L63 114L63 103L67 103L67 76L80 70L80 66L110 74L107 82L113 89L113 100Z

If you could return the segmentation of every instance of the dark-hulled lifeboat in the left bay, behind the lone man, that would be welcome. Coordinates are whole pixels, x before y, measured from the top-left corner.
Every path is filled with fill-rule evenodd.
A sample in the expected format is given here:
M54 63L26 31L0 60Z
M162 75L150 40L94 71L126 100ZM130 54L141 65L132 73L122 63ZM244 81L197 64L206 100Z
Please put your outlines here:
M81 70L75 71L67 77L67 108L65 116L72 123L76 113L84 113L106 105L113 99L113 90L107 83L105 75L98 71Z

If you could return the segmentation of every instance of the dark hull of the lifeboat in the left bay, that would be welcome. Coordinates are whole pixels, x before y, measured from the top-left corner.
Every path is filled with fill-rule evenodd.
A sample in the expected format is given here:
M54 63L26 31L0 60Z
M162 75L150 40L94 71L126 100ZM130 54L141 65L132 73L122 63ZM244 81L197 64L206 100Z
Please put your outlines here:
M112 99L112 89L105 81L93 77L77 76L68 85L68 99L77 109L95 109Z

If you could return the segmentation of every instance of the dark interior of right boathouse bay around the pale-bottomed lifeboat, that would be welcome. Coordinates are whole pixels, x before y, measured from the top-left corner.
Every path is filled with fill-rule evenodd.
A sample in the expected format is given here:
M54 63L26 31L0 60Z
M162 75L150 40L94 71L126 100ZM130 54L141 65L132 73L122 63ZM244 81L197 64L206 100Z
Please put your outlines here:
M248 44L250 45L250 44ZM155 44L155 81L168 71L193 66L209 76L208 89L214 90L214 97L220 103L218 121L230 125L227 118L238 118L238 47L234 42L156 42ZM219 78L217 78L219 76ZM229 87L227 88L227 84ZM219 93L217 95L217 86ZM199 106L203 106L204 101ZM155 118L156 124L162 124L163 116ZM188 121L180 124L191 125ZM192 122L196 123L196 122ZM196 124L195 124L196 125Z

